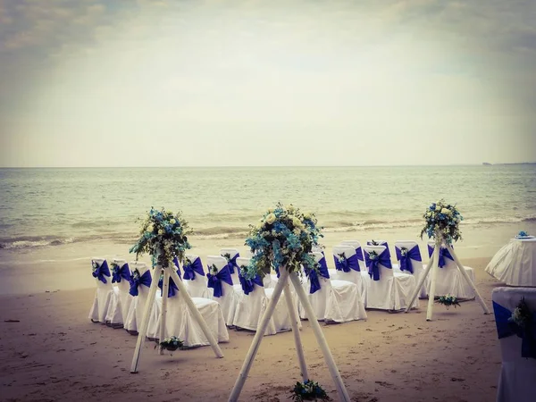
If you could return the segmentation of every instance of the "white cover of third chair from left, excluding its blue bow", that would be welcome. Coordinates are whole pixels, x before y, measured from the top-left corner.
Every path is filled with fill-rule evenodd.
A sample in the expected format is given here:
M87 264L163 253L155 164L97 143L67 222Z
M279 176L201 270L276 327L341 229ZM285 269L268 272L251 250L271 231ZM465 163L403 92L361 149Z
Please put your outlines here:
M151 277L151 281L155 280L152 278L151 269L147 267L147 264L145 263L139 263L139 262L131 262L130 263L130 272L134 274L138 270L140 277L143 277L143 275L148 275ZM148 272L148 274L146 274ZM147 276L145 277L147 278ZM140 283L138 286L138 296L132 297L132 301L130 302L130 308L129 308L129 314L127 314L127 319L124 322L124 328L125 330L129 331L130 333L137 333L138 332L138 326L141 325L141 322L143 320L143 313L145 310L145 305L147 302L147 297L149 296L149 287L150 287L149 281L147 281L145 284ZM156 296L158 297L160 295L160 292L156 292ZM149 310L149 325L147 327L147 337L148 338L154 338L155 333L158 330L156 327L157 320L156 316L159 314L159 307L158 303L155 302L155 305Z

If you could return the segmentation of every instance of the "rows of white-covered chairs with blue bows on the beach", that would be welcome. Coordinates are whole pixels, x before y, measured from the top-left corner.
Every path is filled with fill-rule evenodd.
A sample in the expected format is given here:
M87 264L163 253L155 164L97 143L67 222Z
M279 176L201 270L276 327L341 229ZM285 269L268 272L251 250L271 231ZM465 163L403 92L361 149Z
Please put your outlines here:
M333 247L335 269L328 269L322 250L316 250L313 253L318 270L303 267L302 284L308 290L308 297L319 320L347 322L366 318L365 307L386 310L400 310L406 307L408 298L418 283L419 275L423 272L419 247L415 242L397 242L395 250L398 264L391 264L389 245L385 241L378 241L378 243L380 245L367 245L362 249L358 241L348 240ZM456 273L459 273L456 265L447 262L449 260L445 258L446 263L440 270L440 273L446 274L438 275L436 285L438 295L443 294L441 293L443 282L445 289L450 287L449 291L444 294L453 294L452 289L459 288L456 284L453 286L448 282L456 276ZM117 268L112 272L112 281L105 282L101 280L105 278L105 274L101 274L99 278L95 264L101 267L97 271L105 271L102 267L106 265L107 268L107 262L104 259L94 259L93 263L97 292L90 318L94 321L109 322L114 326L122 324L125 329L135 333L138 330L138 322L141 320L148 286L150 286L150 270L147 264L131 263L129 266L124 260L114 260ZM259 317L264 313L272 297L278 275L273 273L264 276L263 279L255 278L253 281L247 281L241 277L239 268L247 265L249 260L240 257L239 251L232 248L222 249L221 255L209 255L206 263L205 272L198 255L187 255L186 264L183 265L183 282L189 295L194 297L196 304L210 309L216 317L216 319L212 318L212 322L216 323L214 331L217 331L218 339L224 340L229 337L222 322L228 326L255 331ZM473 271L469 267L467 269ZM177 271L180 275L178 267ZM110 275L108 269L108 276ZM132 279L133 277L135 279ZM112 286L113 283L117 286ZM207 341L202 332L194 328L195 324L191 322L188 309L172 282L170 282L169 289L170 302L167 314L170 318L166 320L166 334L181 336L181 339L187 341L187 345L190 344L188 346L206 344ZM471 289L469 290L472 292ZM425 297L426 292L427 286L425 285L421 289L420 296ZM303 306L297 303L297 298L293 293L291 296L293 308L296 308L301 318L307 319ZM462 298L470 297L473 295L465 294ZM158 336L161 306L162 298L157 297L149 321L148 336L150 338ZM209 308L209 306L213 307ZM181 320L177 319L177 314L181 314ZM180 328L177 328L177 322L190 322L191 328L184 325L179 325ZM196 330L193 331L195 333L190 333L192 328ZM290 328L288 308L284 297L281 297L266 334L288 331ZM189 339L191 342L188 341Z

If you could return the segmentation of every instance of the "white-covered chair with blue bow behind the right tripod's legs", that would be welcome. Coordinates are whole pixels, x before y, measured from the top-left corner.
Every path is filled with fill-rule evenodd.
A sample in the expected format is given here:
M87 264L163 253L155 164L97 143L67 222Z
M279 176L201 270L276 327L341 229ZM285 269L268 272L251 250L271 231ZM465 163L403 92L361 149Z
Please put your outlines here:
M433 240L428 242L428 255L431 256L435 243ZM464 276L459 272L456 262L446 247L441 246L440 248L440 268L438 269L438 274L436 275L436 289L435 296L446 296L451 295L460 299L471 299L474 298L473 289L465 281ZM471 281L474 283L474 270L470 266L465 266L465 272L471 278ZM431 275L430 275L431 277ZM427 291L430 291L430 281L428 283Z

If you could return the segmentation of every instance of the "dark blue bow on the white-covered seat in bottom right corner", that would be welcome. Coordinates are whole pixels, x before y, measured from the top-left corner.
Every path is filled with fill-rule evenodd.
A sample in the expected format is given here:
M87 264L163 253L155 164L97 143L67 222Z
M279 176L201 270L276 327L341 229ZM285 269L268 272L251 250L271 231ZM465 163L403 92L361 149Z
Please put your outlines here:
M521 356L536 359L536 313L532 312L532 320L528 327L522 327L511 321L512 312L496 302L493 302L493 313L497 324L498 339L517 335L522 339Z

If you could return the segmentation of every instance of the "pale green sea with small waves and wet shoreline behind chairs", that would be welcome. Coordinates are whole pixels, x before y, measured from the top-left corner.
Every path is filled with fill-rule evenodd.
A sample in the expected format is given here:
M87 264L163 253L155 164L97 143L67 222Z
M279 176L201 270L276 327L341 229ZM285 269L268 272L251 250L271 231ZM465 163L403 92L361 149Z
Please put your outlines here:
M465 247L487 245L492 255L518 230L536 231L536 164L0 169L0 274L131 258L151 207L181 211L198 254L217 254L244 248L248 226L278 202L316 214L331 247L418 239L427 205L440 198L464 216ZM0 293L13 290L3 282Z

